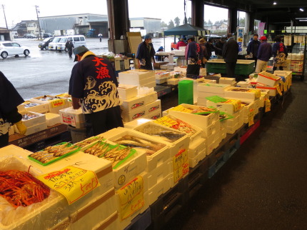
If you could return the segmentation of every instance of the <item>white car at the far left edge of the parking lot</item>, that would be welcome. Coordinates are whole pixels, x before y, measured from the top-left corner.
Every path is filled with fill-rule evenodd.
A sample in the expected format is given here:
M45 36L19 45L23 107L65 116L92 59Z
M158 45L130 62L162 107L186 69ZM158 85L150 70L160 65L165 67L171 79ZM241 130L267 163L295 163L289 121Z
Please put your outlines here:
M21 46L14 41L0 41L0 56L6 59L7 56L14 56L24 54L28 56L30 54L29 48Z

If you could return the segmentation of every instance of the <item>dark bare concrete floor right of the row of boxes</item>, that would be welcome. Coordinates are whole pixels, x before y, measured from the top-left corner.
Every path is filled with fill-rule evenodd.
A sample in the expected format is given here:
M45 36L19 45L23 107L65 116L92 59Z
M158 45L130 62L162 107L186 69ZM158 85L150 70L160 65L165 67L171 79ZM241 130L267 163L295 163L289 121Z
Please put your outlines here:
M165 229L307 229L307 82L274 107Z

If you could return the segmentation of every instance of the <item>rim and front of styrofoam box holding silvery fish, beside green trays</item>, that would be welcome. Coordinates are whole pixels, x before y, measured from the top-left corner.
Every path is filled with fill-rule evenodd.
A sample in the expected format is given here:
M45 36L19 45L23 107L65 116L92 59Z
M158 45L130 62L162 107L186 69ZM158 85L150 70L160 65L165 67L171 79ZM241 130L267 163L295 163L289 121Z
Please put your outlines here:
M106 139L109 139L110 141L116 141L119 139L121 136L125 136L127 134L131 134L133 136L139 136L141 138L148 139L149 141L156 141L156 139L153 139L152 136L149 136L147 134L140 133L139 131L135 131L134 129L126 129L126 128L116 128L116 129L111 129L107 131L106 133L103 134L103 136ZM137 150L139 151L139 150ZM141 151L139 151L141 152ZM146 156L146 161L147 164L144 166L146 167L146 171L152 171L156 169L159 165L163 164L164 162L168 161L168 159L171 158L170 155L170 149L169 146L165 146L159 151L156 151L155 154L152 154L151 156Z

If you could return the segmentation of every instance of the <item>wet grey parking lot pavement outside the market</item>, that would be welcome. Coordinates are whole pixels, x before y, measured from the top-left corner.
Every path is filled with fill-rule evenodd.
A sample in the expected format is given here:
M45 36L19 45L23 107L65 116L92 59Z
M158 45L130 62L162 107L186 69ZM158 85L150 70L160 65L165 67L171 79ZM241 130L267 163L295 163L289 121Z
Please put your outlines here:
M30 55L8 56L7 59L0 57L0 71L24 99L68 91L71 69L75 64L74 58L69 59L68 53L64 51L39 49L37 39L14 39L14 41L22 46L28 46ZM170 46L173 39L168 38L166 41ZM163 39L153 39L153 43L156 49L163 46ZM101 42L99 38L86 38L86 46L94 54L103 54L109 50L106 38Z

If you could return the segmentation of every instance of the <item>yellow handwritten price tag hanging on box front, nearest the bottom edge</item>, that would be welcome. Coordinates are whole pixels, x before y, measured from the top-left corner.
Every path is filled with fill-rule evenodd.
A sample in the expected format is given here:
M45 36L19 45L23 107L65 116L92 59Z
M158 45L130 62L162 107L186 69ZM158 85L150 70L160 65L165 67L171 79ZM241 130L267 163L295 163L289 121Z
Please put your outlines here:
M116 193L119 194L121 220L127 219L145 204L143 177L137 176Z

